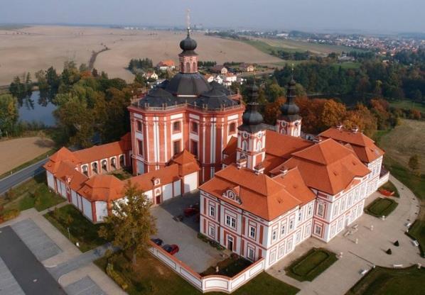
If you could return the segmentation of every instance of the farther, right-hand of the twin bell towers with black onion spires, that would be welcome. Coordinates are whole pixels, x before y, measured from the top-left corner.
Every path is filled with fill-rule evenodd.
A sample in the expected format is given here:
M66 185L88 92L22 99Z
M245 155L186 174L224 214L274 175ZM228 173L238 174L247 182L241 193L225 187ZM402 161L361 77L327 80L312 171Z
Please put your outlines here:
M281 106L281 116L276 121L276 131L291 136L301 136L301 116L298 115L299 108L295 104L296 82L294 78L288 83L286 102Z

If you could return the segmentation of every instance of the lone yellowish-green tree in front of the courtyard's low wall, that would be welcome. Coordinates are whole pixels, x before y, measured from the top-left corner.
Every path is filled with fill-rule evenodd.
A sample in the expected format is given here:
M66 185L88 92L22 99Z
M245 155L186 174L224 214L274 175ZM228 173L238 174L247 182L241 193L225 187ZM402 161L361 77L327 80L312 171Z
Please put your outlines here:
M104 218L99 236L112 240L114 246L132 256L134 265L138 256L149 247L151 235L156 233L152 203L136 184L127 182L124 187L125 201L114 201L113 214Z

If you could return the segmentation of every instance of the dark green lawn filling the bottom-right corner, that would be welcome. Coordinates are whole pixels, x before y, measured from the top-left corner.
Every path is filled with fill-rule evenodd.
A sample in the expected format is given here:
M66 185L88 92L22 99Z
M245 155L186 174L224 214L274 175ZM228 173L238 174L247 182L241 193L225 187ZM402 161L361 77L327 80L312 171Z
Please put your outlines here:
M375 267L357 282L346 295L420 295L424 294L425 269Z

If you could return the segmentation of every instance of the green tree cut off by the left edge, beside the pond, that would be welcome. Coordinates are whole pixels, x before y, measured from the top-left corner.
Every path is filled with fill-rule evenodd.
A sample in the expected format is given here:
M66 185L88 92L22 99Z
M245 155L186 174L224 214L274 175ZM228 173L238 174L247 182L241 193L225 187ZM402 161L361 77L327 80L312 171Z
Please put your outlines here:
M7 135L14 129L18 121L17 101L11 94L0 95L0 137Z

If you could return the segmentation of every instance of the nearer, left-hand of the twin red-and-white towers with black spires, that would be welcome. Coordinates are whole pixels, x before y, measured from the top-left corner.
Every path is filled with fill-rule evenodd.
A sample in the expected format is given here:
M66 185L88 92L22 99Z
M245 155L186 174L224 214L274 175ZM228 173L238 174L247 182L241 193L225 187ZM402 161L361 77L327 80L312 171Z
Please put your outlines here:
M249 85L247 110L242 116L242 125L237 129L236 160L246 160L247 168L262 172L262 162L266 157L266 130L263 116L258 111L258 87L255 81Z

